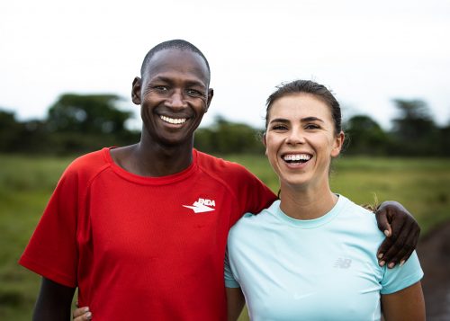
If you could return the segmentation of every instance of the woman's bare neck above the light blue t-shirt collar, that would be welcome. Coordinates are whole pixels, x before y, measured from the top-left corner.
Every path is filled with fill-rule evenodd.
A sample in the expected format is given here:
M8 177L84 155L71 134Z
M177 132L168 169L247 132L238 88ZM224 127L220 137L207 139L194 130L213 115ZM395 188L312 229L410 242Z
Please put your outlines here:
M293 190L281 186L280 208L291 218L313 219L327 214L338 201L338 196L331 192L329 185L322 189Z

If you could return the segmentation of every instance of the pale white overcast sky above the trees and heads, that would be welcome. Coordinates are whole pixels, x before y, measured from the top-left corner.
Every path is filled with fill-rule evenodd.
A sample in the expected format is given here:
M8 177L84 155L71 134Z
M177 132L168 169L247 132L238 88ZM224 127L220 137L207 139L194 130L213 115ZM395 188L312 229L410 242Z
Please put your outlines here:
M262 127L266 97L297 78L327 85L345 118L365 114L385 129L392 99L422 99L450 122L447 0L14 0L0 3L0 109L43 119L60 94L119 94L135 111L131 83L148 49L184 39L211 66L221 115Z

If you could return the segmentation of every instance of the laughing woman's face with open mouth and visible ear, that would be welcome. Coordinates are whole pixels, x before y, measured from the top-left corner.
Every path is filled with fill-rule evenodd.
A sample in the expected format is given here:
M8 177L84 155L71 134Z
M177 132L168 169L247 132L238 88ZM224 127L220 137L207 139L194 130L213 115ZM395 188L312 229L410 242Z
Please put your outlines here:
M266 155L282 186L328 186L331 157L344 141L343 132L334 132L330 107L312 94L289 94L267 117Z

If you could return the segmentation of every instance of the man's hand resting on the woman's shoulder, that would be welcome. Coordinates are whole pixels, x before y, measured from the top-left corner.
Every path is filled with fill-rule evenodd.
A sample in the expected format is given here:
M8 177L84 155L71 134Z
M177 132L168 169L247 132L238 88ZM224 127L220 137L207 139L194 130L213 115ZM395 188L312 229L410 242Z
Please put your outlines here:
M378 249L380 265L405 263L419 242L418 222L397 201L384 201L375 214L378 228L387 236Z

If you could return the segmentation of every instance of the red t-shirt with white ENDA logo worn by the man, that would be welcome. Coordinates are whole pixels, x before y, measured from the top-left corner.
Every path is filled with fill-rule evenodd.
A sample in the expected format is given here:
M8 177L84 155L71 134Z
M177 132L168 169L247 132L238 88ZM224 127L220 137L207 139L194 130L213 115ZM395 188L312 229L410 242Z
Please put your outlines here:
M59 180L19 263L68 287L95 320L224 320L229 228L275 195L243 166L193 150L164 177L130 174L109 148Z

